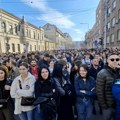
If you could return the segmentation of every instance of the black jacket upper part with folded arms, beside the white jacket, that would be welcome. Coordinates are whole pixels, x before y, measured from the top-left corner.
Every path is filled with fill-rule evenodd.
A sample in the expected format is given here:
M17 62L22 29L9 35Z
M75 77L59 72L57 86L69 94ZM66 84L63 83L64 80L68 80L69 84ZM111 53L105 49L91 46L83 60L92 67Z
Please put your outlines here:
M46 81L36 81L35 83L35 98L47 97L54 98L58 104L59 96L65 95L64 89L61 87L58 80L51 78Z

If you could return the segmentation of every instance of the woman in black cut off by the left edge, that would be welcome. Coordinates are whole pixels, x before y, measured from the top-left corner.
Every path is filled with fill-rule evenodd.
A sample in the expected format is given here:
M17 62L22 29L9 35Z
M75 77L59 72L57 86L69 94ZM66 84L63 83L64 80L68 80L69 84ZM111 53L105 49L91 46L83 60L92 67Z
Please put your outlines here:
M11 80L7 78L6 70L0 67L0 120L14 120L10 86Z

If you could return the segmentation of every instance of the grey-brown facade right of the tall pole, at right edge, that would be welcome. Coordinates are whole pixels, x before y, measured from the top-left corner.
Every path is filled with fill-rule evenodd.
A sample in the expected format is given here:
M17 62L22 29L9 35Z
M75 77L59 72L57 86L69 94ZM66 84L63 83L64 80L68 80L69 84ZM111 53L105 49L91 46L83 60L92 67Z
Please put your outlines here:
M120 47L120 0L107 0L106 46Z

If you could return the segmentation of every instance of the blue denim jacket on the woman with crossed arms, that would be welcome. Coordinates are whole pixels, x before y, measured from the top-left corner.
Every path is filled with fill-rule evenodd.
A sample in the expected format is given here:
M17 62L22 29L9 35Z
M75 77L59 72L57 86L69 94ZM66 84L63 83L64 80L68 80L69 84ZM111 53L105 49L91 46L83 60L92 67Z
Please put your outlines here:
M74 88L76 93L76 100L79 102L80 99L94 99L95 96L95 85L96 81L93 77L89 77L89 79L84 82L82 79L76 77L74 80ZM85 90L86 93L80 92L80 90Z

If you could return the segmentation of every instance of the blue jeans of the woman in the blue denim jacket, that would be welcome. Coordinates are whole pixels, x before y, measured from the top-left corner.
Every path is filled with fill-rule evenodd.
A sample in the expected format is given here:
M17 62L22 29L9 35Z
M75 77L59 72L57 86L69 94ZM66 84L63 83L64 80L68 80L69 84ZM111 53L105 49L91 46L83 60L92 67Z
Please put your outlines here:
M78 114L77 120L91 120L93 110L91 101L88 101L87 104L82 101L76 103L76 109Z

